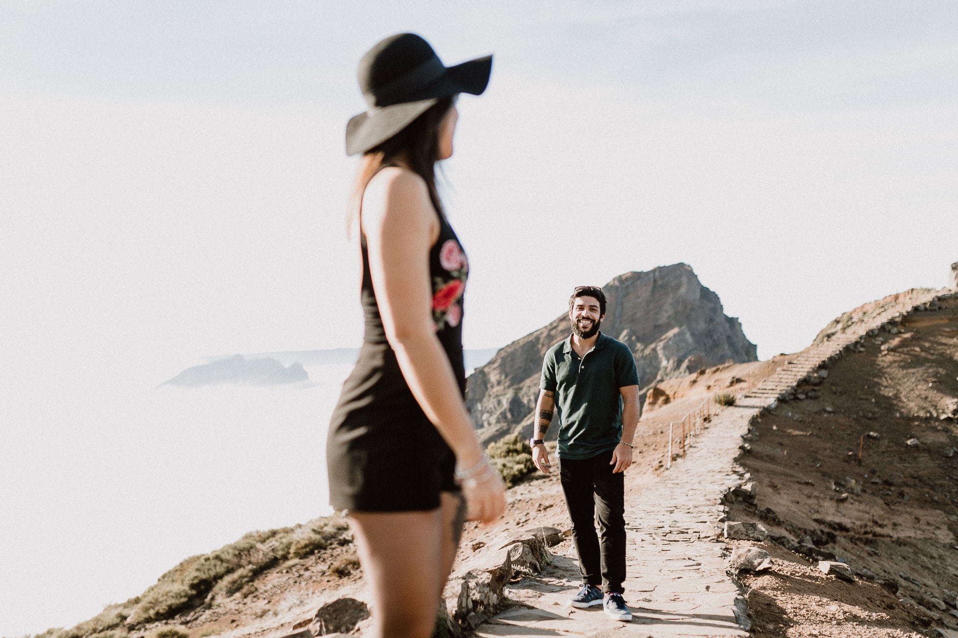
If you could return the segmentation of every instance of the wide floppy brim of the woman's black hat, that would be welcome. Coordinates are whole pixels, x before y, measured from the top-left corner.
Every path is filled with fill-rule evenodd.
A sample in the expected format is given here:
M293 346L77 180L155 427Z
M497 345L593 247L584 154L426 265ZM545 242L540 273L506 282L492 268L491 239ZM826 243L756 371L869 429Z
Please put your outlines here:
M363 153L385 142L442 98L457 93L481 95L489 85L491 71L491 55L446 67L442 76L410 96L409 101L353 116L346 124L346 154Z

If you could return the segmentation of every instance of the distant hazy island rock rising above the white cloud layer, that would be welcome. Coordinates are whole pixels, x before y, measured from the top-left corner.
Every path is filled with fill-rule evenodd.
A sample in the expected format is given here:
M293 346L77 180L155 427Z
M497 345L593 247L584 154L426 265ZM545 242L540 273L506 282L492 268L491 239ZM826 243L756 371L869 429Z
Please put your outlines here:
M308 381L302 363L284 365L275 359L246 359L234 355L211 363L189 367L161 385L199 387L201 385L283 385Z

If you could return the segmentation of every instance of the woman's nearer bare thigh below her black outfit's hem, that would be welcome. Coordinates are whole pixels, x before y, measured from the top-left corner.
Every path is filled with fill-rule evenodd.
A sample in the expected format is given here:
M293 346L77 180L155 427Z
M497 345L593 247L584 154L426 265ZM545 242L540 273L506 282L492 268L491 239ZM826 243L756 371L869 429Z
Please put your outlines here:
M363 577L373 595L368 636L432 634L445 583L443 510L350 514Z

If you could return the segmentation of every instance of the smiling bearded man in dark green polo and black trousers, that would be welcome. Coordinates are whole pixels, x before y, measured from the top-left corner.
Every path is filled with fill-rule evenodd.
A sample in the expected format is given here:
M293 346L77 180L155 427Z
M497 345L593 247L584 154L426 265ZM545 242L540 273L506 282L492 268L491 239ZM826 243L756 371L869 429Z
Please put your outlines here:
M555 413L559 418L559 478L582 571L582 588L570 599L571 605L603 605L612 618L629 621L632 614L622 597L626 580L624 472L632 464L632 437L639 422L639 378L628 346L599 332L604 317L602 289L576 288L569 298L572 334L549 348L542 363L537 425L530 445L536 468L549 473L543 439ZM596 537L596 518L601 543Z

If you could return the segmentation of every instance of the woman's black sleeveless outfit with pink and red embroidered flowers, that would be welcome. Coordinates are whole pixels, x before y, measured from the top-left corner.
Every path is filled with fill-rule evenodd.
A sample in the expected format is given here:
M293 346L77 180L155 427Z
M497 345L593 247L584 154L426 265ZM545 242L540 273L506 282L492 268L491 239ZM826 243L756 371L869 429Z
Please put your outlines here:
M465 396L462 320L468 261L445 215L436 214L439 238L429 250L433 329ZM355 512L434 510L440 492L459 490L453 478L456 459L399 370L379 316L363 234L360 247L366 329L330 422L330 503Z

